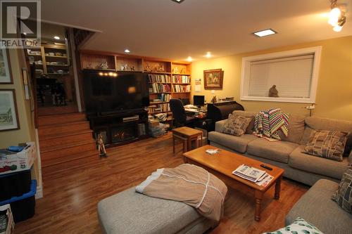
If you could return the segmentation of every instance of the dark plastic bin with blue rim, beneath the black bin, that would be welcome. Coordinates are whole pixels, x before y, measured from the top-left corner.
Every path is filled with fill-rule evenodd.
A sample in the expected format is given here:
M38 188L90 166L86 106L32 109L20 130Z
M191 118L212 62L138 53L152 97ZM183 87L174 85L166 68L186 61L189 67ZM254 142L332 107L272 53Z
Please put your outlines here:
M10 204L15 223L32 218L35 212L35 193L37 193L37 181L32 180L30 192L19 197L11 197L9 200L0 202L0 205Z

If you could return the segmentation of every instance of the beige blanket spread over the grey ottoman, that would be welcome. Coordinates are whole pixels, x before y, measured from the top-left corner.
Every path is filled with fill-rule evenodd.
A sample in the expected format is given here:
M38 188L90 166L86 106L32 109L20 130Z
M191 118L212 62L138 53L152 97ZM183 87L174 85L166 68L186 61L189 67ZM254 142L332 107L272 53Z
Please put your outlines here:
M157 169L136 187L138 193L189 204L202 216L220 221L227 193L225 183L201 167L181 164Z

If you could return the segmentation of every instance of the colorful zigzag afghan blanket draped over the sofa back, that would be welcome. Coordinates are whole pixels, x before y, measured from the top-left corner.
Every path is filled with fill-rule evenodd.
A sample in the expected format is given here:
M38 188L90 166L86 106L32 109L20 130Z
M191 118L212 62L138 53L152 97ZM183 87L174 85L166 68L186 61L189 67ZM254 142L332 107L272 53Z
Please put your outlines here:
M254 120L255 134L263 134L281 140L279 137L280 129L285 136L289 134L289 115L279 108L258 112Z

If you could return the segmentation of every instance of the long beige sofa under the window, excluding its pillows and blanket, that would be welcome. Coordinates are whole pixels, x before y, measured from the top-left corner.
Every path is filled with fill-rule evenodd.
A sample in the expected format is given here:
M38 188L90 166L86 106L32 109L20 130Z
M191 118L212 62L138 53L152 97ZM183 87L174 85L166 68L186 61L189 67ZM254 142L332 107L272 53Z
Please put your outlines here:
M338 130L352 132L352 122L321 117L289 115L289 134L280 135L282 141L270 142L254 136L254 116L257 112L235 110L233 115L251 117L252 121L242 136L223 134L227 119L215 123L215 131L208 134L210 145L237 152L246 157L272 164L284 169L284 177L313 186L320 179L339 183L348 164L352 163L352 134L348 137L341 162L316 157L301 152L315 130Z

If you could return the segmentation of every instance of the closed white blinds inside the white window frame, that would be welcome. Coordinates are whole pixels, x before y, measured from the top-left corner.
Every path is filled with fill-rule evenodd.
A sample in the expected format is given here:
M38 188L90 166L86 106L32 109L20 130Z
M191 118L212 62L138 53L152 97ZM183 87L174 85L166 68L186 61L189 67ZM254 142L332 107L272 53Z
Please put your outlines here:
M249 96L268 97L276 85L280 98L310 98L314 53L250 62Z

